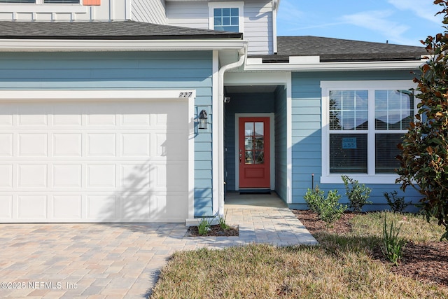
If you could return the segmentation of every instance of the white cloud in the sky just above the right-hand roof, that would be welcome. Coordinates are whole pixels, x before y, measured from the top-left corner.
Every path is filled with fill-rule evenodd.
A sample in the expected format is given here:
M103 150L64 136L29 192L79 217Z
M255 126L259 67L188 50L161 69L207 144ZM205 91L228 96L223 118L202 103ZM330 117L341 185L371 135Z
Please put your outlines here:
M393 15L393 11L363 11L352 15L343 15L340 20L381 34L392 43L414 43L414 41L409 41L403 37L409 27L388 20L391 15Z

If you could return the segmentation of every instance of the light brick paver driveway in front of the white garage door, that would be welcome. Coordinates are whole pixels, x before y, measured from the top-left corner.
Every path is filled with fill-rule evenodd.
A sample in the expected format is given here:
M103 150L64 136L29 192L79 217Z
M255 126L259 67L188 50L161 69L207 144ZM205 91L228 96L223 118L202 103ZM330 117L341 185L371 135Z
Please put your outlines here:
M181 224L0 224L0 298L143 298Z

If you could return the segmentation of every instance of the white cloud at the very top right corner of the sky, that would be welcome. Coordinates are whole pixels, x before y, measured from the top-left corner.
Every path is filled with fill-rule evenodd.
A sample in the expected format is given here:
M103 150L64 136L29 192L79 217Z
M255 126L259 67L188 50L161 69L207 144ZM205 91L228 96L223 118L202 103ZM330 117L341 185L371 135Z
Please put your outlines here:
M398 8L400 11L412 11L419 18L429 20L440 24L442 17L435 13L440 10L441 6L434 5L433 0L388 0L388 3Z

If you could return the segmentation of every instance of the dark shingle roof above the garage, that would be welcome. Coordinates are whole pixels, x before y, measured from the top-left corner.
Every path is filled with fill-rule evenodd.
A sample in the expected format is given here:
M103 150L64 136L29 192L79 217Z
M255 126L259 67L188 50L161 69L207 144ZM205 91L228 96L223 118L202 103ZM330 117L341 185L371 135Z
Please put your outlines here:
M1 21L0 39L242 39L242 34L134 21Z

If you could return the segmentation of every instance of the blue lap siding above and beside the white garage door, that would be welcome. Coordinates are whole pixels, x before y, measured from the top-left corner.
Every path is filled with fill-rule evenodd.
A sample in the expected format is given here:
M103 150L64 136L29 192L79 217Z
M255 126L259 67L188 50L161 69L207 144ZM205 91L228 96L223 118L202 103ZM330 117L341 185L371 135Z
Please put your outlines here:
M212 53L1 53L0 89L188 89L211 115ZM195 215L212 213L211 128L195 137Z

